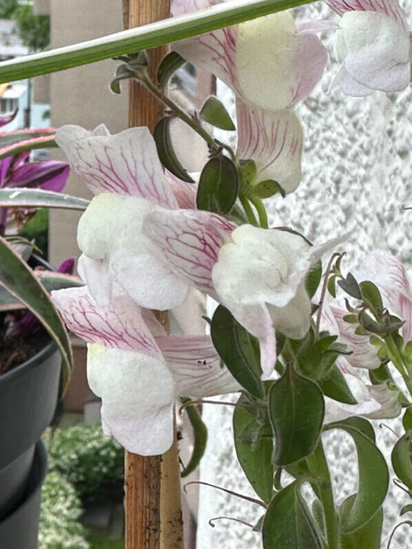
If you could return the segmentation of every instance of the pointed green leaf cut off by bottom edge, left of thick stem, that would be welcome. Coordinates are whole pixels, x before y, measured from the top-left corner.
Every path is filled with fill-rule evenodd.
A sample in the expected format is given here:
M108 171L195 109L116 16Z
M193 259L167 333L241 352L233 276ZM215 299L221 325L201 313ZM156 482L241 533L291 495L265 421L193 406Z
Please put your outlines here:
M296 481L276 494L267 509L262 528L264 549L321 549L305 501L298 494Z

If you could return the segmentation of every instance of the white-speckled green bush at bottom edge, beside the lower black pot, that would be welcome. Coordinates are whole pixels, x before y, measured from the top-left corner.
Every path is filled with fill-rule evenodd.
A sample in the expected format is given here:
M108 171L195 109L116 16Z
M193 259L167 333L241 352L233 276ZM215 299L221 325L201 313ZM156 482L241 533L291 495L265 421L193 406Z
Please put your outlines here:
M81 513L81 502L70 482L57 471L49 473L41 490L39 548L88 549L78 522Z

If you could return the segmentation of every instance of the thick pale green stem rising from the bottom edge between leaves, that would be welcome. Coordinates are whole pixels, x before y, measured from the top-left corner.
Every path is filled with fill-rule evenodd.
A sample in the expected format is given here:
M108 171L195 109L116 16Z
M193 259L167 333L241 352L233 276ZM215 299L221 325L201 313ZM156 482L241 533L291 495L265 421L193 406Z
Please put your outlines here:
M316 481L312 483L313 491L322 502L323 512L325 513L328 549L340 549L339 519L333 500L329 467L320 439L313 454L306 459L311 474L316 477Z

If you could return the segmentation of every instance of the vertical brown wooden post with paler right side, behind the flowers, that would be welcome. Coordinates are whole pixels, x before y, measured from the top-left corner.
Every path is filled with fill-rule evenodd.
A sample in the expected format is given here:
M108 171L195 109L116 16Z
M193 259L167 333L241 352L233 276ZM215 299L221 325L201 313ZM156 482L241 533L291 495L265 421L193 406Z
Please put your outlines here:
M129 28L169 17L170 0L123 0ZM149 70L156 75L167 48L148 52ZM163 106L138 83L130 83L129 126L154 130ZM167 318L160 318L163 323ZM182 549L181 489L176 441L163 459L125 452L125 548Z

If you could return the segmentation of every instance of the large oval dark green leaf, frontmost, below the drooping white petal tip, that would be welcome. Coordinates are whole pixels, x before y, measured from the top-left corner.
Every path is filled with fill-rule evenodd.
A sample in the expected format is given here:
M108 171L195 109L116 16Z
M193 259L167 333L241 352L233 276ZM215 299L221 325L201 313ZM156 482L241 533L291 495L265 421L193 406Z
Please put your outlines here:
M289 365L269 391L268 406L275 435L276 465L288 465L311 454L325 415L325 402L318 385Z

